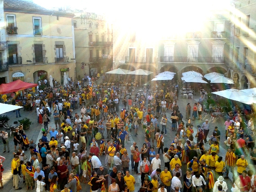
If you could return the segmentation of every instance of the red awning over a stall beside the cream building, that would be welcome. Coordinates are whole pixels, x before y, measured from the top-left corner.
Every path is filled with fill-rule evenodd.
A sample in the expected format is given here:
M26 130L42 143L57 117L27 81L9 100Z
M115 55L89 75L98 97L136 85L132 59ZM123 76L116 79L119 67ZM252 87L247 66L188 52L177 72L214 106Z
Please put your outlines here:
M6 93L12 93L32 87L36 87L37 84L34 83L26 83L23 82L22 80L16 80L14 82L6 83L6 84L1 84L0 85L0 94L6 94Z

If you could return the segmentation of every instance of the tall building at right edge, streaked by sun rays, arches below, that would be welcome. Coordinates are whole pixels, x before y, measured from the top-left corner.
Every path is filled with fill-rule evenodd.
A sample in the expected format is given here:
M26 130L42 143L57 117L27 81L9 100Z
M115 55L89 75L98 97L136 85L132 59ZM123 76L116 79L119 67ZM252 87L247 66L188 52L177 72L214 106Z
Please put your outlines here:
M235 0L230 12L231 46L228 77L236 88L256 87L256 0Z

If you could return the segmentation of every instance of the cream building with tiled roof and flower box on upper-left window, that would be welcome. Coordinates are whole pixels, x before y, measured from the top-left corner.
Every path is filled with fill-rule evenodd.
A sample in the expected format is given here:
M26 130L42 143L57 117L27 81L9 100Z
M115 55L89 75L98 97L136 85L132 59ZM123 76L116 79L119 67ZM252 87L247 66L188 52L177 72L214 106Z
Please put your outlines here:
M76 76L73 16L32 2L4 0L10 82L37 83L50 75L63 82L64 72Z

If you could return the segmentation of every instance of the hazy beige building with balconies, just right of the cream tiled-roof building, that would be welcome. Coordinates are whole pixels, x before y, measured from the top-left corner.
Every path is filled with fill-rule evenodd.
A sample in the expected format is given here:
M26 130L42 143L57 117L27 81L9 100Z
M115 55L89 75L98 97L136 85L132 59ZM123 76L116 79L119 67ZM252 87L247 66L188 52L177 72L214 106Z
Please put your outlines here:
M112 68L113 25L103 15L74 10L77 78Z

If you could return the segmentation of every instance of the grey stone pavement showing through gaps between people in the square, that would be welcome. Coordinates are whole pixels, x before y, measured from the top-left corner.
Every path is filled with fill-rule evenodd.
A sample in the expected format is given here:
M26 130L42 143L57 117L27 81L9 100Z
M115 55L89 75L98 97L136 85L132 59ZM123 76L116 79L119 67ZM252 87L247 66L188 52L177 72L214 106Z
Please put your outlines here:
M137 92L137 89L132 94L134 94L136 92ZM194 96L193 100L192 99L182 99L182 98L179 98L179 100L177 100L178 106L179 106L179 110L183 114L184 118L185 118L185 107L186 107L187 103L193 104L196 101L198 101L198 99L200 97L200 93L195 92L195 94L196 95ZM133 96L132 96L132 98L133 98ZM121 108L121 107L122 107L122 102L120 102L120 107L119 108ZM24 118L24 117L30 118L30 120L33 122L33 124L30 126L30 129L25 130L25 131L26 131L27 137L29 139L33 138L33 140L36 141L35 143L37 144L39 138L42 137L41 129L43 128L43 126L38 124L35 110L33 112L28 112L28 111L21 110L20 112L21 112L22 118ZM78 112L78 114L80 114L80 110L79 109L74 110L73 114L75 112ZM171 130L171 120L170 120L171 113L172 112L170 110L166 111L166 115L167 115L167 118L168 118L168 123L167 123L167 136L164 136L164 138L165 138L164 139L164 141L165 141L164 142L164 147L168 147L168 148L170 147L170 144L171 144L172 140L174 140L174 137L175 137L175 132L173 132ZM8 112L8 113L6 113L4 115L8 115L10 117L10 121L8 122L9 125L12 124L12 122L14 122L15 120L21 119L21 118L16 118L16 114L14 112ZM205 117L204 113L202 114L202 117L204 117L203 121L201 121L201 120L194 120L193 121L193 124L194 124L194 134L193 135L194 136L196 134L196 126L197 125L202 125L202 123L204 122L205 119L210 120L210 116L207 115ZM162 116L160 116L160 118L162 118ZM160 122L160 118L159 118L159 122ZM53 119L53 117L52 117L52 119ZM183 119L183 121L186 124L186 119ZM222 118L217 118L214 121L209 121L209 124L210 124L209 136L212 133L212 131L214 130L215 126L218 126L218 128L219 128L219 130L221 132L219 156L222 156L223 158L225 158L226 147L224 146L224 143L223 143L224 140L225 140L224 120ZM50 124L48 124L48 128L49 128L49 126L55 127L53 120L51 120ZM160 127L160 130L161 130L161 127ZM104 135L106 135L106 133L104 133ZM48 134L48 139L49 138L50 138L50 135ZM6 161L3 164L4 172L3 172L3 177L2 178L3 178L4 190L6 190L6 191L14 191L14 188L12 187L12 172L11 172L11 166L10 166L12 158L13 158L12 152L14 152L13 136L11 136L11 137L9 136L9 141L10 141L10 150L11 150L10 153L7 153L7 152L3 153L3 144L2 144L2 140L0 140L0 155L4 156L6 158ZM144 143L144 131L142 130L141 126L138 129L138 136L134 137L134 130L132 129L132 134L131 134L131 137L130 137L130 141L125 143L125 147L126 147L126 149L128 151L128 155L129 156L130 156L130 146L132 145L132 142L134 142L134 141L137 142L137 145L138 145L138 147L140 149L142 147L142 144ZM155 146L156 146L156 142L155 142ZM204 144L204 146L205 146L205 148L207 150L210 147L209 144ZM89 149L87 151L89 151ZM157 149L155 149L155 151L157 152ZM29 150L25 151L25 154L28 156L28 158L30 157ZM164 168L164 161L163 161L162 154L160 154L160 159L162 161L161 169L163 170L163 168ZM102 164L104 165L105 164L105 156L100 156L100 160L101 160ZM183 164L182 165L182 174L184 174L185 172L186 172L186 165ZM140 175L137 175L137 174L135 174L135 172L131 171L131 168L130 168L130 174L133 175L135 180L136 180L135 190L137 191L137 190L139 190L140 184L141 184ZM229 177L232 178L232 174L231 173L230 173ZM181 179L183 179L183 177ZM228 191L230 191L230 189L232 187L232 181L230 179L225 179L225 182L227 182L228 189L229 189ZM182 181L182 184L183 184L183 181ZM90 187L89 187L88 184L82 183L81 185L82 185L83 191L89 191L90 190ZM22 180L20 182L20 187L22 187L22 190L20 190L20 191L26 191L26 186L22 182ZM34 189L34 191L35 191L35 189Z

